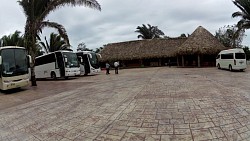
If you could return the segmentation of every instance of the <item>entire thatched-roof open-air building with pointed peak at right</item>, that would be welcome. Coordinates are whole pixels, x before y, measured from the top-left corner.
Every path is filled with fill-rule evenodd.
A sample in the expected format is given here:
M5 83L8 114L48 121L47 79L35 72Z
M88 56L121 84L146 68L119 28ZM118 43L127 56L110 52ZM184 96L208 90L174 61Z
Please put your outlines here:
M189 37L135 40L105 45L102 61L120 61L123 67L173 65L215 66L215 57L226 49L209 31L199 26Z

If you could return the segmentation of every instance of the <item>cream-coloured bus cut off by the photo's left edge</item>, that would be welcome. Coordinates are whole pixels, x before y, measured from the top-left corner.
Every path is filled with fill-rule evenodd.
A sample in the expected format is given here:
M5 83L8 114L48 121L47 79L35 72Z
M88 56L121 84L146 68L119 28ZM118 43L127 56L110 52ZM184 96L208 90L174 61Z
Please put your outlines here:
M0 89L9 90L30 84L29 66L31 56L24 47L0 48Z

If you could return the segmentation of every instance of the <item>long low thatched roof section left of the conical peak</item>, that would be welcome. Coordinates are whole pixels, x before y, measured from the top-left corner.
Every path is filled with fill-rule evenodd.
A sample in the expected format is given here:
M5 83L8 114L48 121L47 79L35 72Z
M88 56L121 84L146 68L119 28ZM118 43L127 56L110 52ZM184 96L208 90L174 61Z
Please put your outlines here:
M173 57L186 39L147 39L107 44L101 51L102 61Z

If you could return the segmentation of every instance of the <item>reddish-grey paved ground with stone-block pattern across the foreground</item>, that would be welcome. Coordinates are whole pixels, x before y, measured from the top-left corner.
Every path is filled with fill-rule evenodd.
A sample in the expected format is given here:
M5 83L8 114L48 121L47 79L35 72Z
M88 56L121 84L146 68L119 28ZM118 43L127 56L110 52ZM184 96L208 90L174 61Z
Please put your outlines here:
M0 140L250 140L250 70L125 69L0 94Z

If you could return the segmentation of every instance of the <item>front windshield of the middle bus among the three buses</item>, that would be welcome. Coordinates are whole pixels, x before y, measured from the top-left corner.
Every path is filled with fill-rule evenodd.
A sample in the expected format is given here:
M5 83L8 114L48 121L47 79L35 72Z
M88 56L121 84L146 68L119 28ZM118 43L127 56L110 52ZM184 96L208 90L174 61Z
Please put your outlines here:
M63 56L67 56L67 62L65 62L66 68L74 68L74 67L80 67L78 63L78 59L75 53L72 52L63 52Z

